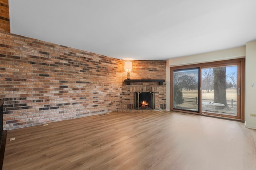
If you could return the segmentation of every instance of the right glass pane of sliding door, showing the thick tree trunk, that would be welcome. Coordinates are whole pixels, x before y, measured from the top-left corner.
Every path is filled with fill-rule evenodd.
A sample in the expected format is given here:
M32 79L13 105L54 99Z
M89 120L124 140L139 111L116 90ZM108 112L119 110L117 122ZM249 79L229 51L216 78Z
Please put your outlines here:
M202 69L202 111L237 114L237 66Z

